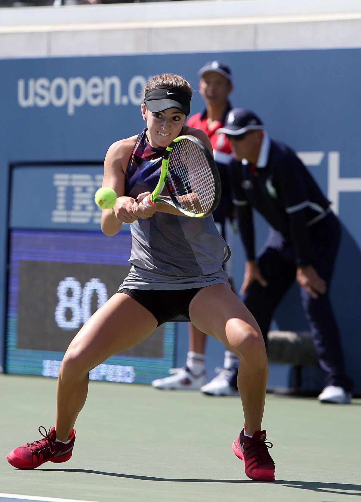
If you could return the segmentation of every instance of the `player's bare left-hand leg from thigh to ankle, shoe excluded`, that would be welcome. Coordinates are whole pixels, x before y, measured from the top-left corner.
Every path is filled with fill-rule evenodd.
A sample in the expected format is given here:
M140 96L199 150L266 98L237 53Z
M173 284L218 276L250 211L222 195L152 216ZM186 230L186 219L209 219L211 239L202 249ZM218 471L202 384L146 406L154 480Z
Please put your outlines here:
M116 293L70 343L59 371L57 439L67 441L88 393L88 373L111 355L137 345L156 328L155 317L133 298Z

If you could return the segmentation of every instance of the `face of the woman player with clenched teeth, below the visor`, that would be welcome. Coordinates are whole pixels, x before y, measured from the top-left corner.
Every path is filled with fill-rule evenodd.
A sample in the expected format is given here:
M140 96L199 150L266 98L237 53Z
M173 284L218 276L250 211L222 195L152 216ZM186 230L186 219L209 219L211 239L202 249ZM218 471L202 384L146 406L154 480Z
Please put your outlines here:
M147 122L147 140L154 148L167 147L179 136L187 116L178 108L151 112L142 106L142 114Z

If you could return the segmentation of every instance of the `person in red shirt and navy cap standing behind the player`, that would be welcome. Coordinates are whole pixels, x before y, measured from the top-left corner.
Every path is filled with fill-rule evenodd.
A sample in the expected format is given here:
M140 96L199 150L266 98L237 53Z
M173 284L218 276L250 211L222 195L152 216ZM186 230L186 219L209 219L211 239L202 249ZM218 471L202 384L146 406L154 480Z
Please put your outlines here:
M201 129L211 140L214 159L221 177L222 196L217 209L213 212L214 220L221 235L226 238L226 220L233 218L234 206L229 182L229 163L232 159L231 145L224 134L217 130L224 125L227 113L231 109L228 96L233 89L230 68L221 61L209 61L198 72L200 94L206 107L200 113L192 115L187 125ZM226 264L229 276L231 264ZM182 368L172 368L171 376L157 379L152 386L157 389L198 390L205 394L238 396L237 368L238 357L226 350L224 367L207 384L205 372L206 335L192 323L189 327L190 343L187 361ZM218 369L217 369L218 370Z

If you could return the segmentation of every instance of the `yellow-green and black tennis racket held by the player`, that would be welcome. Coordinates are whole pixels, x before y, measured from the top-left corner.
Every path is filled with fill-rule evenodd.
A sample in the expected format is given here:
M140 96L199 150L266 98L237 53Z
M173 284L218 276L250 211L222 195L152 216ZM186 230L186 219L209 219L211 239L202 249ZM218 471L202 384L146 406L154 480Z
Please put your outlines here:
M164 186L170 198L160 195ZM149 207L161 202L202 218L216 209L220 198L221 180L209 150L194 136L179 136L166 148L158 184L142 203Z

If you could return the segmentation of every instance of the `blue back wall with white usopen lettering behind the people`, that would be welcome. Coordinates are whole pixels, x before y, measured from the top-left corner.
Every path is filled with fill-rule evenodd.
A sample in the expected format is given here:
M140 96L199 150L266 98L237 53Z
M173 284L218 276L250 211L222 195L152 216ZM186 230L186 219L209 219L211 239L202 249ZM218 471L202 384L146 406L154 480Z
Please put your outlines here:
M182 74L196 90L195 113L203 107L198 69L220 59L233 71L232 103L256 111L272 138L299 153L339 214L343 235L331 298L347 372L360 393L360 56L358 49L336 49L0 60L0 337L6 326L9 228L98 230L92 197L101 183L100 166L114 141L142 129L142 86L157 73ZM267 226L256 221L259 248ZM239 287L244 255L239 237L232 241ZM296 286L273 327L307 328ZM179 331L184 336L178 337L178 364L187 350L186 325ZM210 341L210 376L222 360L223 348ZM287 385L288 368L282 371L274 368L270 382Z

